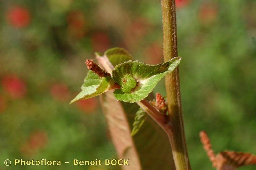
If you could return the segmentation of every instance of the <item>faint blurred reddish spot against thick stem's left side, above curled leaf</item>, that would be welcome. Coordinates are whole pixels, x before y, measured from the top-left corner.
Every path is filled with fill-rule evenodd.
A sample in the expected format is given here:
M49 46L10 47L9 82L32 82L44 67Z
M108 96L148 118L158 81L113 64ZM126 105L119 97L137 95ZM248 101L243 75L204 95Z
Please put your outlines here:
M148 64L159 64L163 61L163 48L162 44L155 42L151 44L144 53L144 58Z

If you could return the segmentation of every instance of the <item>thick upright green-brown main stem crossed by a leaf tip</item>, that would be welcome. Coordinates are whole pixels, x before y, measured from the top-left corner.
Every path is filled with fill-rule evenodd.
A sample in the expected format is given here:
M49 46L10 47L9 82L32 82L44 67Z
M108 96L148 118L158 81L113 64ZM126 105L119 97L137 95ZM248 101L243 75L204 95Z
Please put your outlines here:
M176 28L176 10L175 0L161 0L163 14L163 46L164 61L168 61L178 56L177 52L177 28ZM181 109L180 98L180 78L179 69L165 77L166 92L168 98L168 120L167 124L171 126L167 133L172 145L173 159L176 169L191 169Z

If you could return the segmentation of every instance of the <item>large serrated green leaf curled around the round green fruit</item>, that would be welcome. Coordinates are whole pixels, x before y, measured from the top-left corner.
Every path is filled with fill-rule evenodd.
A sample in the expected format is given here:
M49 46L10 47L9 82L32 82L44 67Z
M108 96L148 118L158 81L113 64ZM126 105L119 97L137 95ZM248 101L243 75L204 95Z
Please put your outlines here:
M138 102L147 97L156 84L168 73L172 72L180 63L181 57L175 57L166 63L148 65L138 61L128 61L118 64L112 71L113 79L119 85L122 84L125 75L131 75L137 80L137 86L130 93L116 89L114 96L116 100L125 102Z

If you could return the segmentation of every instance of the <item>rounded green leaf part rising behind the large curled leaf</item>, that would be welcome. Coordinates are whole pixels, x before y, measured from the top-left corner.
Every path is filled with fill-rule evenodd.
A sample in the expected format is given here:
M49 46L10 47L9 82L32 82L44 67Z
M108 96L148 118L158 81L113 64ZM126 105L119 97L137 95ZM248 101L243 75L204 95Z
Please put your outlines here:
M126 51L124 48L111 48L108 49L104 55L108 57L109 61L116 66L117 64L124 63L129 60L133 60L132 55Z

